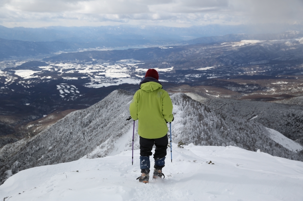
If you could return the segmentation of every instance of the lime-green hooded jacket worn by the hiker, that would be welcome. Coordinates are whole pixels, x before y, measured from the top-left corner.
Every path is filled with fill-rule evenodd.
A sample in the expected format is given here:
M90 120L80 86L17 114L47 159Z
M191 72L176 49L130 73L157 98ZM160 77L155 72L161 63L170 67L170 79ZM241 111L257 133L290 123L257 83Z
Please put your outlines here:
M154 81L141 84L129 110L132 119L139 120L139 136L147 139L165 136L168 132L166 122L173 120L171 98L162 85Z

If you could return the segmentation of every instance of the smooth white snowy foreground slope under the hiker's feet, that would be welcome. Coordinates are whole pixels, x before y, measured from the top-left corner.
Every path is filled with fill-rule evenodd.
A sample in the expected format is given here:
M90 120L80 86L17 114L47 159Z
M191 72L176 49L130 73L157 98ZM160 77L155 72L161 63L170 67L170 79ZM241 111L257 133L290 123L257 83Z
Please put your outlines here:
M20 171L0 186L0 199L303 200L300 161L234 146L189 144L173 148L173 163L168 157L163 168L164 180L143 184L136 180L140 175L139 150L134 154L133 166L132 152L125 151ZM210 160L214 164L208 164Z

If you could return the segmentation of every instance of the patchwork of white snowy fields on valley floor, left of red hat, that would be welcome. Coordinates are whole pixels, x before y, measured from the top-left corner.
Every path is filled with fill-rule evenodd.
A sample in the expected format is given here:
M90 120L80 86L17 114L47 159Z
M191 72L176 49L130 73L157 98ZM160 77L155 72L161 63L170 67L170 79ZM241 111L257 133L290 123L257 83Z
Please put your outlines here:
M19 65L20 63L18 63ZM22 78L19 84L25 82L31 84L32 81L37 79L57 79L61 77L65 80L77 80L78 78L89 78L90 82L85 83L85 87L100 88L112 85L120 85L124 83L139 84L142 75L138 73L146 72L147 69L138 69L140 61L133 59L125 59L113 64L96 62L91 64L90 62L85 64L79 64L77 62L50 62L47 66L39 66L41 71L33 70L14 70L14 74L8 74L0 71L0 75L6 78L5 84L10 85L17 79L16 75ZM159 72L170 71L169 69L158 69ZM136 73L133 75L133 73ZM56 74L54 76L54 74ZM45 76L47 75L47 76ZM35 80L32 80L35 78ZM27 88L28 86L24 86Z

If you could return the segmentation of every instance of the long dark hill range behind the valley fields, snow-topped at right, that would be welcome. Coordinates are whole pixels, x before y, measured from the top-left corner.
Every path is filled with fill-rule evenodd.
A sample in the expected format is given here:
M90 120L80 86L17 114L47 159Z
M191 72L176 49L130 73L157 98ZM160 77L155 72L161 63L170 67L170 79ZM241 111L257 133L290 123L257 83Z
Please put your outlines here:
M301 33L282 34L276 37L298 37ZM246 35L242 35L247 37ZM230 38L227 37L227 38ZM268 68L285 68L300 66L303 61L303 38L287 40L241 40L215 44L193 44L186 46L165 46L143 49L112 51L83 51L62 53L45 58L48 62L63 61L119 61L135 59L144 62L140 68L171 68L174 70L207 70L245 72L248 66L268 66ZM262 68L263 68L262 67ZM248 69L247 69L248 70ZM268 69L269 70L269 69ZM268 73L268 70L265 72ZM249 71L249 70L248 70ZM262 71L262 70L258 70ZM298 71L301 72L301 71ZM247 72L248 73L248 72Z

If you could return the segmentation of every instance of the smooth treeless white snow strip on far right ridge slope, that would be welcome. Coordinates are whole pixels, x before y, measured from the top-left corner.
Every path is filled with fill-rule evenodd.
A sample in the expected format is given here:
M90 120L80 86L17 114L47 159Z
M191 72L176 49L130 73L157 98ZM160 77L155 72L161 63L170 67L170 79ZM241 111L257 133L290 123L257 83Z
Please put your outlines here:
M300 145L297 142L294 142L293 140L285 137L283 134L281 134L280 132L274 130L274 129L270 129L270 128L266 128L269 132L269 137L279 143L280 145L282 145L283 147L293 151L293 152L298 152L303 150L302 145Z

